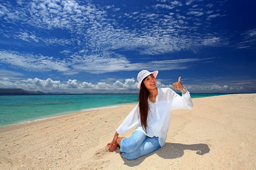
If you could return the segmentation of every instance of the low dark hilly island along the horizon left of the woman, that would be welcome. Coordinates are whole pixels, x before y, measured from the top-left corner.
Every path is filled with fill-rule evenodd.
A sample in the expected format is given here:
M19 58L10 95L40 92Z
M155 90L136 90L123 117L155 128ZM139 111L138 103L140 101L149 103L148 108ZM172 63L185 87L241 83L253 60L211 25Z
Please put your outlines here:
M0 88L0 95L3 94L29 94L29 95L52 95L52 94L78 94L78 93L66 93L66 92L52 92L44 93L42 91L25 91L21 88ZM131 93L80 93L80 94L131 94Z

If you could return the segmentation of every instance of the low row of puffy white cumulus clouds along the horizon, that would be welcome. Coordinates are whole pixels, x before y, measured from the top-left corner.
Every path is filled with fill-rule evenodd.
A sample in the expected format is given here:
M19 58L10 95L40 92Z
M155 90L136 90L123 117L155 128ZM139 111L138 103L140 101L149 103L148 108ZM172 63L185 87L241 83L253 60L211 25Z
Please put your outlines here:
M185 79L184 79L185 80ZM43 91L43 92L114 92L114 93L138 93L138 82L134 79L125 79L125 82L117 80L114 83L98 82L92 84L91 82L78 82L76 79L69 79L67 82L61 83L60 81L54 81L50 78L46 80L42 79L26 79L16 82L11 82L9 79L0 80L0 88L22 88L28 91ZM186 85L191 93L232 93L245 91L243 87L229 87L227 85ZM172 84L162 84L157 81L158 88L173 88ZM174 90L175 91L175 90ZM176 91L178 92L178 91Z

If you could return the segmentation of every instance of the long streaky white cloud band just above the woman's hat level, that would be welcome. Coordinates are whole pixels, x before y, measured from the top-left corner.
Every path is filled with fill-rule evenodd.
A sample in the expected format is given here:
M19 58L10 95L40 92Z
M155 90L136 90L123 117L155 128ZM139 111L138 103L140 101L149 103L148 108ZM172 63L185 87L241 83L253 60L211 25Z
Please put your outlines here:
M54 57L18 53L17 51L0 51L0 62L13 68L22 68L27 71L47 72L58 71L64 75L88 72L102 74L115 71L134 71L147 69L158 70L186 69L191 62L211 60L204 59L172 59L152 62L131 63L126 57L115 53L103 53L102 55L80 56L73 55L71 59L56 59Z

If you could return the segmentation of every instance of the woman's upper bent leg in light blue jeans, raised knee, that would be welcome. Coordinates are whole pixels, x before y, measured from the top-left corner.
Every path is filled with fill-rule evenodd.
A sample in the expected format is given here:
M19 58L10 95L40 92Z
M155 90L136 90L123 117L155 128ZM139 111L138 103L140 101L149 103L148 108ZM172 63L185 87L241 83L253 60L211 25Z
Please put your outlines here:
M147 136L143 132L139 130L134 131L131 137L121 140L120 152L132 153L136 151L146 138Z

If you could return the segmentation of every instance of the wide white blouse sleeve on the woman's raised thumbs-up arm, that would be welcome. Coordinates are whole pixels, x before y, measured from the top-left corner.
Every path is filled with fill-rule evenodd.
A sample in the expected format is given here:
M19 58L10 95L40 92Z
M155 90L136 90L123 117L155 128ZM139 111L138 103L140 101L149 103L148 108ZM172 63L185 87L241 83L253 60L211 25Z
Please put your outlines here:
M182 96L178 95L171 89L172 96L172 110L176 109L192 109L193 102L190 97L189 91L186 91L186 94L182 94Z

